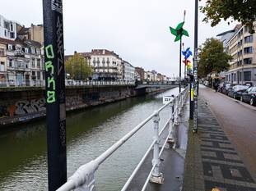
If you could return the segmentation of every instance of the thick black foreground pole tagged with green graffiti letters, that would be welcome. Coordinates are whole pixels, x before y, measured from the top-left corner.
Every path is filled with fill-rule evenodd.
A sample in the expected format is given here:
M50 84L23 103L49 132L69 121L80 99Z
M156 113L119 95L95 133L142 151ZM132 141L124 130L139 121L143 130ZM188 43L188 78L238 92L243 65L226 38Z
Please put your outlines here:
M43 0L49 191L67 181L63 2Z

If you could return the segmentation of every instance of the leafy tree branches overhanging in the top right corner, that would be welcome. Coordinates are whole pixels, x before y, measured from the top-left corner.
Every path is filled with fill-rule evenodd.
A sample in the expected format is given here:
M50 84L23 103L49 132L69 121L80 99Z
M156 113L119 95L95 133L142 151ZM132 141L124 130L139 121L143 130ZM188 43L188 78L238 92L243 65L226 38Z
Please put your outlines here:
M210 20L212 26L217 25L221 19L231 18L249 26L250 33L254 33L255 0L207 0L205 7L201 7L201 11L206 15L203 21Z

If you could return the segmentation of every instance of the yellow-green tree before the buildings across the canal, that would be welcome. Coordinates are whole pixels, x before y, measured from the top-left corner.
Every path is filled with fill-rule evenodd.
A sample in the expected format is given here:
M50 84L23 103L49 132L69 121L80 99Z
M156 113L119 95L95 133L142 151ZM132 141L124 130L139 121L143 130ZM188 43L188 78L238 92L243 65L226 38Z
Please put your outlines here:
M74 56L69 57L65 64L66 73L72 80L85 80L91 77L93 70L87 64L85 57L75 52Z

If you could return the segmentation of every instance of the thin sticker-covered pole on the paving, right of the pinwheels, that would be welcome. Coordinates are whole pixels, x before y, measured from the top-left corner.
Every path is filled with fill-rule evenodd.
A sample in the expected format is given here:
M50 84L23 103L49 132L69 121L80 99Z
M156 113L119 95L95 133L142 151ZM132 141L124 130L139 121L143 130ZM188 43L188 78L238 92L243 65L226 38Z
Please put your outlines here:
M194 61L193 61L193 75L194 75L194 102L193 102L193 132L198 132L198 0L195 0L195 18L194 18Z

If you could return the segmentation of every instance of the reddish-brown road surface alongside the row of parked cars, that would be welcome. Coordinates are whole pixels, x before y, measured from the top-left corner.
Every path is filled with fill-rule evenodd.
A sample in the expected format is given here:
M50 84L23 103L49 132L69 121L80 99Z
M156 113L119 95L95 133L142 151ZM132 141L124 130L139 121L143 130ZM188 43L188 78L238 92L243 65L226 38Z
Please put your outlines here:
M205 99L231 143L239 152L256 180L256 110L213 89L200 86L199 96Z

